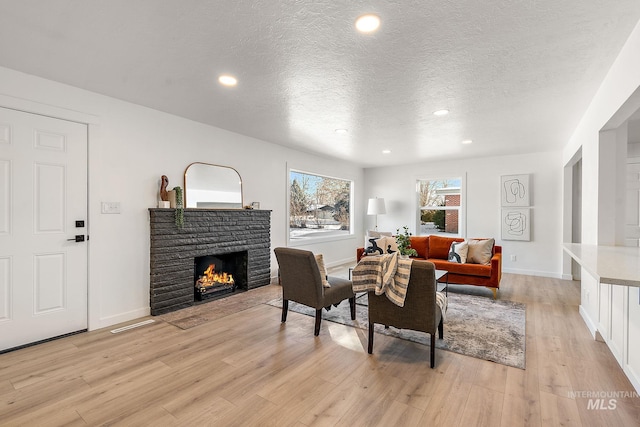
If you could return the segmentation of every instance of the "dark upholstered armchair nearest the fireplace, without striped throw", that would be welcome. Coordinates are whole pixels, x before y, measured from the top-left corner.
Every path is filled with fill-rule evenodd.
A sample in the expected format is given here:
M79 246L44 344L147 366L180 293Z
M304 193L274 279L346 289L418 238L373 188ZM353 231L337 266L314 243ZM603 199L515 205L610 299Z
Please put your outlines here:
M282 285L282 322L287 321L289 301L316 309L314 335L320 334L322 309L348 299L351 319L356 318L356 297L350 280L327 276L330 287L323 286L322 275L313 252L292 248L275 248Z

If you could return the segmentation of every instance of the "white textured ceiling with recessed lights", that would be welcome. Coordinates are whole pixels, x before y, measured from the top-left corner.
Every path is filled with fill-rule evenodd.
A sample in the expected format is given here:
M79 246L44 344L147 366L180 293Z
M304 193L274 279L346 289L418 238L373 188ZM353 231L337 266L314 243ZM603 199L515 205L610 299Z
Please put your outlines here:
M639 19L638 0L0 0L0 65L367 167L560 149Z

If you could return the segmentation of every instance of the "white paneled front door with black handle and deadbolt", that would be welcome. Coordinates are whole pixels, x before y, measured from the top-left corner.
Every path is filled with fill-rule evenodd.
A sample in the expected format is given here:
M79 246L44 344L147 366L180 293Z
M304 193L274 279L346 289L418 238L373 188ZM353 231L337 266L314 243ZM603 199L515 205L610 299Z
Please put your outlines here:
M0 351L87 329L76 235L86 240L87 126L0 108Z

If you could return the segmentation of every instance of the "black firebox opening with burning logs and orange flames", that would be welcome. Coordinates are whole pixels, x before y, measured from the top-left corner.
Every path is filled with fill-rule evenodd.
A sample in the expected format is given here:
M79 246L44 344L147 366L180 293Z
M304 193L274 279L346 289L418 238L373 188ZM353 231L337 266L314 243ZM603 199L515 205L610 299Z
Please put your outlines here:
M247 252L207 255L194 260L196 301L246 289Z

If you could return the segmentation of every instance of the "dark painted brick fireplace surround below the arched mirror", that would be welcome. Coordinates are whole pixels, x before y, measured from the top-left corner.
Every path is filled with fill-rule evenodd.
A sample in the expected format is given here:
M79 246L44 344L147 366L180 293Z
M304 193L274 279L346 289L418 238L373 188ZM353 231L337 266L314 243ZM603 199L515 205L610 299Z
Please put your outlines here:
M174 209L149 209L151 219L150 307L158 315L196 304L198 260L237 255L234 290L268 285L271 276L271 211L185 209L184 227ZM223 264L218 262L218 264Z

